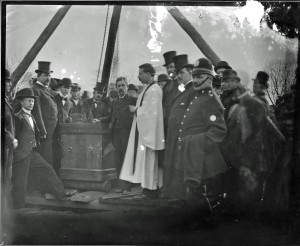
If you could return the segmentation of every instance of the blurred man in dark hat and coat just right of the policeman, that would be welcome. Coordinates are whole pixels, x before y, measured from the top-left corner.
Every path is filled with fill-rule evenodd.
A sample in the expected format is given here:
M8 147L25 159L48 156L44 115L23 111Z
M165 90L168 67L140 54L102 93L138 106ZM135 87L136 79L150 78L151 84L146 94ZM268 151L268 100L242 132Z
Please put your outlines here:
M234 70L226 69L222 90L233 104L226 107L227 136L221 144L227 173L227 198L236 211L256 211L267 173L263 126L266 113L262 103L251 97Z

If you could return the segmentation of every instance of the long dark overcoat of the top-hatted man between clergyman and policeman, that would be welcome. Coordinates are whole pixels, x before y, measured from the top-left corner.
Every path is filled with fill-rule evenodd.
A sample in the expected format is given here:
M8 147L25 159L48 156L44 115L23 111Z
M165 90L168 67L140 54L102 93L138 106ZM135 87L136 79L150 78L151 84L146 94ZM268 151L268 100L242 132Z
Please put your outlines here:
M183 185L182 156L178 151L178 137L181 121L185 115L189 102L196 95L192 83L188 83L185 90L174 98L168 120L168 137L166 140L163 172L163 196L168 198L186 198ZM181 168L175 168L181 167Z

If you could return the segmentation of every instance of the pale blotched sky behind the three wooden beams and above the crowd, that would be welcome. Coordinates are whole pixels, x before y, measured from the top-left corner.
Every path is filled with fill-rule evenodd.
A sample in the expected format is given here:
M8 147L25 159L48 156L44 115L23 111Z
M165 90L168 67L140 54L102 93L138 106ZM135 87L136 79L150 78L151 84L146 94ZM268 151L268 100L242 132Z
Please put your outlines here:
M7 6L6 62L11 71L59 8L60 5ZM51 61L52 77L71 77L84 90L92 91L97 81L107 8L73 5L27 72L35 76L38 61ZM243 7L178 8L249 87L251 78L264 70L269 61L284 59L287 49L297 52L297 40L286 39L261 22L264 10L259 2L247 1ZM113 6L109 6L108 22L112 10ZM163 6L123 6L116 48L116 75L127 77L130 83L139 83L138 66L143 63L152 63L157 74L165 73L164 52L188 54L192 64L204 57ZM103 60L104 57L102 64Z

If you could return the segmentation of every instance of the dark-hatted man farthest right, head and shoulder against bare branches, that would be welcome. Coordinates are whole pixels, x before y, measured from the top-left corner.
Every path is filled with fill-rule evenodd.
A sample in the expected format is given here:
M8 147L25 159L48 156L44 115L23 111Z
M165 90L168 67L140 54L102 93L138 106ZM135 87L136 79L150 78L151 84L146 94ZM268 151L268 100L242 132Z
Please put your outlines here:
M254 98L261 100L265 106L265 110L270 115L270 105L266 97L266 90L269 88L269 75L264 71L258 71L256 78L253 79Z

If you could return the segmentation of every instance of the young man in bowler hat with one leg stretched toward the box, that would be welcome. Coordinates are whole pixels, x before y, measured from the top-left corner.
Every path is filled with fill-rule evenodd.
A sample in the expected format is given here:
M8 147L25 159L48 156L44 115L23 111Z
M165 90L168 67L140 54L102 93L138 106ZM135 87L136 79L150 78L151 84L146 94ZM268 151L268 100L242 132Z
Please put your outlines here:
M25 206L25 196L29 173L39 181L36 186L43 192L53 194L56 199L64 197L64 186L54 169L38 153L39 129L34 116L31 114L37 96L31 88L19 91L16 99L20 101L22 109L15 114L18 147L14 151L12 172L13 206L19 209Z

